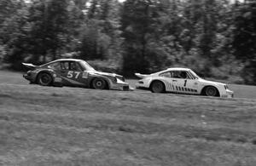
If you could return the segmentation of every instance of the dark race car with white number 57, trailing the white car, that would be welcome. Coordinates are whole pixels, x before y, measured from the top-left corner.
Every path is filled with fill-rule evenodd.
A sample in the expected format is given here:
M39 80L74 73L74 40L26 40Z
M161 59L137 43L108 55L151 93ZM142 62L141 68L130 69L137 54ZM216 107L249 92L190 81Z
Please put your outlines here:
M22 63L30 71L23 75L30 83L43 86L73 86L92 89L130 90L125 78L115 73L97 72L84 60L60 59L34 66Z

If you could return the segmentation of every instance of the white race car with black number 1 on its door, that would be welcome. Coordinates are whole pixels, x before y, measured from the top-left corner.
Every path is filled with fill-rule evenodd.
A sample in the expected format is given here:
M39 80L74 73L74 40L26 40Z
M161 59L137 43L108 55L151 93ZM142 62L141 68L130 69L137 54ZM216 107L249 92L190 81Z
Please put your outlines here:
M150 75L135 73L142 78L137 89L150 89L153 93L201 94L218 97L234 97L227 84L207 81L189 68L168 68Z

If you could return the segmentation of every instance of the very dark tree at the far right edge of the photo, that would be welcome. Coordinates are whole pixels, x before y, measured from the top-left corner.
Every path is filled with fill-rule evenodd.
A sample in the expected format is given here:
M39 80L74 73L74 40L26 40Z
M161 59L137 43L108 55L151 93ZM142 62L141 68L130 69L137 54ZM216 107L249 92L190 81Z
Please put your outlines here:
M233 47L234 54L245 67L241 73L248 84L256 83L256 2L246 1L238 6Z

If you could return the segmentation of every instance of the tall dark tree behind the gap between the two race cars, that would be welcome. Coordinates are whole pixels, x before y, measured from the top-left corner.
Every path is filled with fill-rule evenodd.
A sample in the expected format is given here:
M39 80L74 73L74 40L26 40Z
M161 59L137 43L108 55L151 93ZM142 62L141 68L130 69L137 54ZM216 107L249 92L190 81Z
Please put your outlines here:
M150 63L157 59L154 54L154 39L157 28L156 20L158 1L127 0L121 13L121 30L124 40L125 54L123 69L126 74L133 72L149 72ZM151 43L151 44L149 44Z

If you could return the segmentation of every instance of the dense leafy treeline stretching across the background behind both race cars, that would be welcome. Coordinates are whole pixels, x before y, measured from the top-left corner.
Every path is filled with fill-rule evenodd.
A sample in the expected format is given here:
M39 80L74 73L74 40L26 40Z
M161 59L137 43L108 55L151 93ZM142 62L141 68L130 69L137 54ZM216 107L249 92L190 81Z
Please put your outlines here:
M1 0L0 60L73 57L131 76L167 67L256 84L256 2Z

